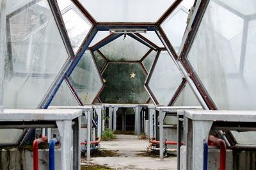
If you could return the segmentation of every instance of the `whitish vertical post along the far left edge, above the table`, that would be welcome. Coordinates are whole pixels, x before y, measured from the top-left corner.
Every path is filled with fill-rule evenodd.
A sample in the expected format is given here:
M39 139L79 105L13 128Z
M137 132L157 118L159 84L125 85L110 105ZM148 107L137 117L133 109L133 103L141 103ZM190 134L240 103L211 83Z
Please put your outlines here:
M5 33L6 33L6 0L1 0L0 7L0 113L3 113L3 92L4 92L4 54L5 54ZM5 43L4 43L5 42Z

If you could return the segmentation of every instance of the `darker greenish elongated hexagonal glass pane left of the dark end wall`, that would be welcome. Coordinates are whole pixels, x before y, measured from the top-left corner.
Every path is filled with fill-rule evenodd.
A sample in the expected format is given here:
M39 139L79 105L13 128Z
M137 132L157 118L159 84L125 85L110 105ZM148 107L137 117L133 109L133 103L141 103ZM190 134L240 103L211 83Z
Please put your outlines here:
M103 82L89 50L86 50L70 75L70 83L83 104L92 104L102 89Z

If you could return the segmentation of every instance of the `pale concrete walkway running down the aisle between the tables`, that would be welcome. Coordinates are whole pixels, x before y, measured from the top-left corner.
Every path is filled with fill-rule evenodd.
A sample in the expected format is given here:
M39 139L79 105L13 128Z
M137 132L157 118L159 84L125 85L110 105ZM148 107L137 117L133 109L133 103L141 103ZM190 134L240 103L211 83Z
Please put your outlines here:
M177 158L166 157L164 161L159 158L141 157L136 154L145 153L148 140L138 139L133 135L116 135L113 141L100 142L104 150L117 151L115 157L94 157L90 162L82 160L82 164L99 164L113 169L176 169Z

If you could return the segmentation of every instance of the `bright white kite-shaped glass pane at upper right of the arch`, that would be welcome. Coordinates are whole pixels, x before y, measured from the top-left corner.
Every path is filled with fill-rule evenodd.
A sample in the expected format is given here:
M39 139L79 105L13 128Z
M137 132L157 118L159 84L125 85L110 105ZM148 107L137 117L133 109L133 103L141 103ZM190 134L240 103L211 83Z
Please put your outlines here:
M172 44L176 52L179 51L180 44L186 29L186 22L188 18L188 11L186 11L182 6L178 6L171 15L164 20L161 27L164 33Z

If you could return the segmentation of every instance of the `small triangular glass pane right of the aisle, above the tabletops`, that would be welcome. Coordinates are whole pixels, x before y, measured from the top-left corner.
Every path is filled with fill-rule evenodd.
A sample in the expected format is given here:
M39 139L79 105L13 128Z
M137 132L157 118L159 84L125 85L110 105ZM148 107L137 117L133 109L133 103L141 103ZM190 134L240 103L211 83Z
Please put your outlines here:
M186 83L173 106L201 106L191 87Z

